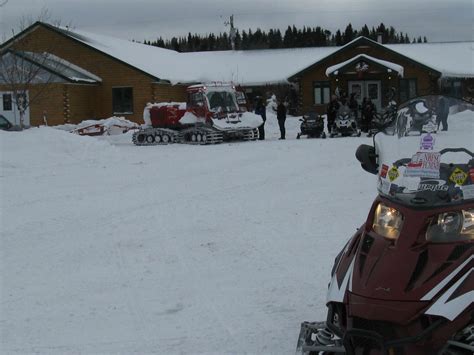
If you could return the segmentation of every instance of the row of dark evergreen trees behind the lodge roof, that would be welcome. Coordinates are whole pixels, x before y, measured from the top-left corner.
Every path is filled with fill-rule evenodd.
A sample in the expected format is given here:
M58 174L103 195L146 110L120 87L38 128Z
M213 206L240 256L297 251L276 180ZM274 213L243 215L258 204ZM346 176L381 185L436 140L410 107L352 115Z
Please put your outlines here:
M288 26L283 34L279 29L270 29L268 32L262 31L260 28L255 31L252 31L252 29L243 30L242 32L237 30L234 42L236 50L325 47L341 46L358 36L365 36L376 41L378 34L382 35L383 43L428 42L426 37L411 37L408 33L399 32L393 26L388 27L383 23L370 29L367 25L364 25L359 30L354 29L349 23L344 31L338 29L334 33L320 26L304 26L301 29L296 28L295 25ZM213 33L208 35L188 33L187 36L172 37L166 40L159 37L155 41L145 40L143 43L178 52L197 52L229 50L231 49L230 42L229 35L224 32L218 35Z

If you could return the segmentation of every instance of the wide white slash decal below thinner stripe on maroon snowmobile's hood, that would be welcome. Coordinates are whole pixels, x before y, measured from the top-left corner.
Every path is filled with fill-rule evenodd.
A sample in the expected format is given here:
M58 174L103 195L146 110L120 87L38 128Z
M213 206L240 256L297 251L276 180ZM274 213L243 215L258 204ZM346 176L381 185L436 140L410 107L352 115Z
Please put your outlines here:
M471 257L472 259L472 257ZM466 280L473 272L474 268L461 277L451 288L449 288L425 313L445 317L450 321L460 315L474 299L474 290L464 293L454 299L451 296L460 288L464 280Z

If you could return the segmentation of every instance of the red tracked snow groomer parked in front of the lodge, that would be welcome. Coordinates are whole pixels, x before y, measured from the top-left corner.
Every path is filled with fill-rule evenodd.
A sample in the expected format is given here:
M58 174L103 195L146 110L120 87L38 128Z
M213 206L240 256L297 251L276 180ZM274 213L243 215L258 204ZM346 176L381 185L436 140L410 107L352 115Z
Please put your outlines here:
M133 134L135 145L216 144L258 138L257 128L263 121L259 115L239 107L242 95L233 85L200 84L186 91L186 103L164 102L145 107L145 125Z

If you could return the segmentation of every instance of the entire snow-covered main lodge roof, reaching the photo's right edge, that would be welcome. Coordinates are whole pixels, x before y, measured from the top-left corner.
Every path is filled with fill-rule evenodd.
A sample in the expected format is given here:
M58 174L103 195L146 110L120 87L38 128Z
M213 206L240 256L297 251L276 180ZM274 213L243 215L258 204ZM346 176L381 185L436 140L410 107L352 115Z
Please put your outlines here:
M60 31L158 80L172 84L232 81L247 86L287 83L295 74L363 38L356 38L342 47L179 53L76 29L61 28ZM437 70L445 77L474 77L474 42L381 46ZM383 65L400 73L400 67L395 69L394 63Z

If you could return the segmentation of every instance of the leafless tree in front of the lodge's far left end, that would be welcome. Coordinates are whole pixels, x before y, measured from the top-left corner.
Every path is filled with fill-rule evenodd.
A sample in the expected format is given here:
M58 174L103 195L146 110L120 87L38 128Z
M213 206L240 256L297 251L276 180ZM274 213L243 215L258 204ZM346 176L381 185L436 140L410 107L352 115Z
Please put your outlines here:
M43 9L36 19L24 16L19 21L18 33L36 21L46 22L49 19L47 9ZM59 27L59 21L56 21L54 26ZM12 30L12 37L15 35ZM67 65L51 54L56 45L54 42L49 43L47 48L42 48L41 52L29 49L34 46L33 39L28 36L21 38L19 42L21 43L17 44L12 41L0 47L0 86L8 90L6 95L10 95L12 111L15 116L18 112L19 125L23 129L28 108L47 93L50 84L58 81L57 72L64 71ZM34 90L31 90L33 87Z

